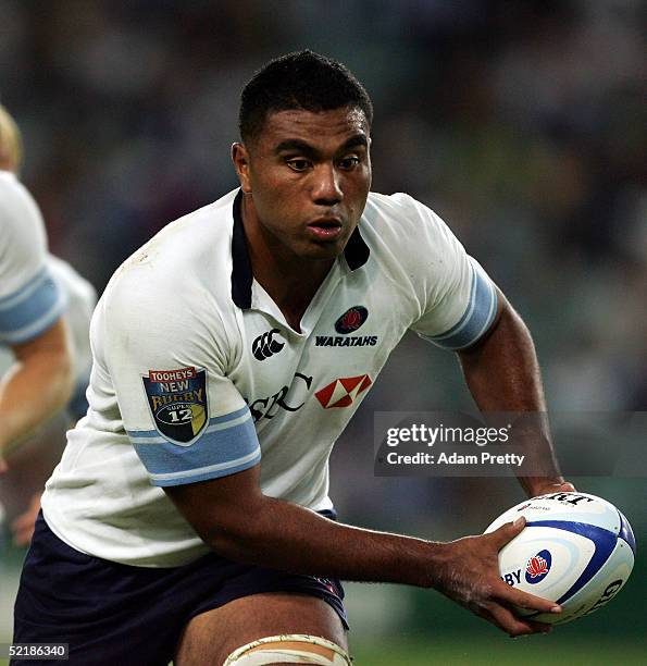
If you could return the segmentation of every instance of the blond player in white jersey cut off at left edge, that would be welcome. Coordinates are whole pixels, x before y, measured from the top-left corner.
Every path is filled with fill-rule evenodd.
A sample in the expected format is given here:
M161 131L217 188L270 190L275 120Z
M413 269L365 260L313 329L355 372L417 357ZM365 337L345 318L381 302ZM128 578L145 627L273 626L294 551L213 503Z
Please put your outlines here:
M0 107L0 344L16 359L0 384L0 471L9 446L61 409L73 390L66 299L48 266L38 206L15 175L21 155L17 126Z

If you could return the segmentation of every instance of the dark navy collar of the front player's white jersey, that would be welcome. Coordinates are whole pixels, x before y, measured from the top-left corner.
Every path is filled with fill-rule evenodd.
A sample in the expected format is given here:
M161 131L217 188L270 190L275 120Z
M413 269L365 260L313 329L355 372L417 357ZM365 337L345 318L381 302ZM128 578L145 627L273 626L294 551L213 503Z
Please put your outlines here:
M232 300L242 310L251 308L251 285L253 274L247 251L247 238L242 226L242 190L238 190L234 199L234 234L232 236ZM360 234L359 226L350 235L344 248L344 258L351 271L364 266L369 260L371 250Z

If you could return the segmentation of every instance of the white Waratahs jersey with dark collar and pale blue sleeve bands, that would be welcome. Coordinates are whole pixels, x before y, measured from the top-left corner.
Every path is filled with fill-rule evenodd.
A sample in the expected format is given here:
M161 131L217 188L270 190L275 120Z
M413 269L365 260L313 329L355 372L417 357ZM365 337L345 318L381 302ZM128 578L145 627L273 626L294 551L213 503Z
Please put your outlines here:
M266 495L328 508L333 444L405 332L458 349L496 306L436 214L371 194L296 332L253 280L229 193L110 281L91 323L90 407L47 484L47 522L82 552L177 566L209 548L161 486L261 462Z

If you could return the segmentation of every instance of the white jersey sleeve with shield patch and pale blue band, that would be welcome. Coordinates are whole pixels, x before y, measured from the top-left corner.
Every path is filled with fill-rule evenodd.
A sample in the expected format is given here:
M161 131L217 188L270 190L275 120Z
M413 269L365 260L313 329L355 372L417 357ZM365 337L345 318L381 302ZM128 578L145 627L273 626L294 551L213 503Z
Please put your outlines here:
M227 335L213 304L199 294L199 304L165 307L167 294L135 273L110 289L92 324L124 429L162 488L235 474L261 455L249 408L227 377Z

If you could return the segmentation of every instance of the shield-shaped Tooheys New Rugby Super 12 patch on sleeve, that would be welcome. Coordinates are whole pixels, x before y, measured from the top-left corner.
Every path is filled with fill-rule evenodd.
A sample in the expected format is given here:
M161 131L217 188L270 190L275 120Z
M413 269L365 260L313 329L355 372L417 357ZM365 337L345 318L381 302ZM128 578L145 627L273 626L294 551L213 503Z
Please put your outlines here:
M175 444L190 444L209 420L206 371L149 370L141 379L157 431Z

